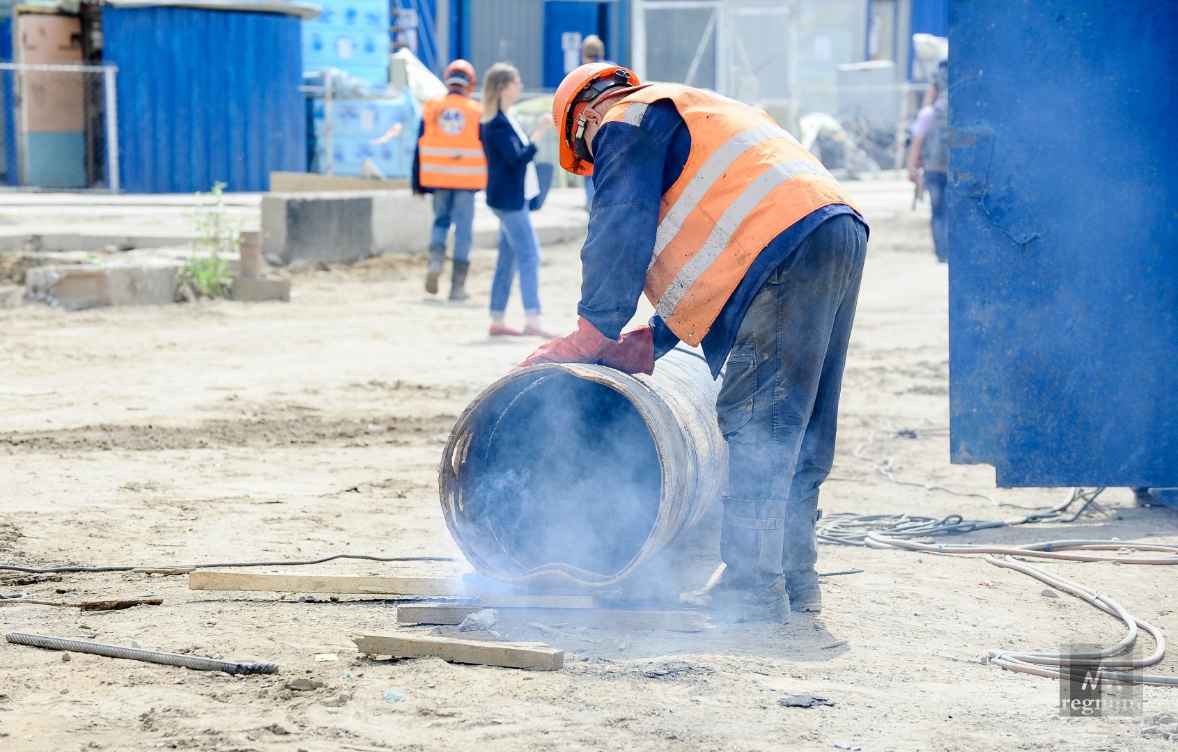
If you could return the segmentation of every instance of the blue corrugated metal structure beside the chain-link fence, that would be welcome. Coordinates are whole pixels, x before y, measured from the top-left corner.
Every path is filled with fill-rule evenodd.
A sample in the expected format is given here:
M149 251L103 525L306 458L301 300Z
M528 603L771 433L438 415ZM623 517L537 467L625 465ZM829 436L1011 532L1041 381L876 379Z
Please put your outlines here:
M298 18L104 6L102 35L124 191L266 191L271 171L306 169Z

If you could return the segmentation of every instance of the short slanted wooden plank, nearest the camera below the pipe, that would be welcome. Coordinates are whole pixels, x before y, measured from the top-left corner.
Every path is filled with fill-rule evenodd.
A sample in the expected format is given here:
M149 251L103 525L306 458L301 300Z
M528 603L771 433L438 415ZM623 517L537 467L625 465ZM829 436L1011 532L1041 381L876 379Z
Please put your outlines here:
M483 643L449 637L357 634L356 647L369 655L441 658L454 664L485 664L508 668L556 671L564 666L564 651L521 643Z

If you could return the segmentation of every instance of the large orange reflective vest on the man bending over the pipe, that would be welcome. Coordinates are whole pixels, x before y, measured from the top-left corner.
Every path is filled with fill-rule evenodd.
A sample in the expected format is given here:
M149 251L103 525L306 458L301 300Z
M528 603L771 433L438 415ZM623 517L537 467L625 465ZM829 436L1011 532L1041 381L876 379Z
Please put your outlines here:
M603 122L640 125L661 99L675 102L691 151L659 207L646 293L667 326L695 346L774 238L816 208L855 205L766 112L719 94L643 86L613 105Z

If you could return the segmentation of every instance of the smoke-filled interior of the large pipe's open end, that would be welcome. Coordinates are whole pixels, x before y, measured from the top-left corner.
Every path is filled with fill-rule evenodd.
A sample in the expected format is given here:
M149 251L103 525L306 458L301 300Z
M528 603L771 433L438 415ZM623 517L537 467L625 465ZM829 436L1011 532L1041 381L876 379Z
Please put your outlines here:
M515 397L468 461L465 507L522 571L564 563L613 574L657 517L650 430L626 397L573 375Z

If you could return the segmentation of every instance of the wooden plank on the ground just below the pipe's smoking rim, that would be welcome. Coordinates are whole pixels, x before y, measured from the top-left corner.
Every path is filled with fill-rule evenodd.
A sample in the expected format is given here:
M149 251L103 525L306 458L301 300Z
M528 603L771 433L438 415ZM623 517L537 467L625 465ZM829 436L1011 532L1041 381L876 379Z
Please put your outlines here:
M461 624L483 606L412 604L397 606L399 624ZM702 632L712 625L702 611L627 611L614 608L497 608L501 621L571 624L607 630L663 630Z

